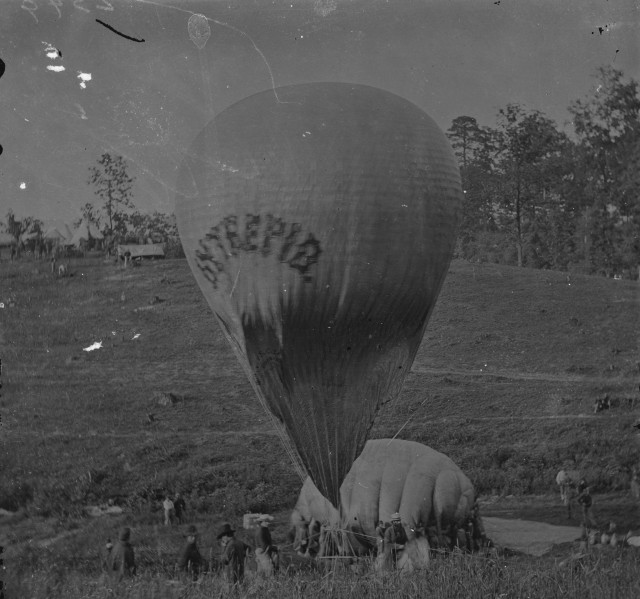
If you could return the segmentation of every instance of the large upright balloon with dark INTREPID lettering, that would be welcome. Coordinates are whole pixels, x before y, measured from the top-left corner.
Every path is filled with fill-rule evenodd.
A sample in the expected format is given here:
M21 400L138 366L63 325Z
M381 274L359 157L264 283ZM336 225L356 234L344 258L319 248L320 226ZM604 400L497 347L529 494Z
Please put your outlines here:
M409 372L462 192L437 125L363 85L294 85L222 111L189 148L187 259L294 460L337 505Z

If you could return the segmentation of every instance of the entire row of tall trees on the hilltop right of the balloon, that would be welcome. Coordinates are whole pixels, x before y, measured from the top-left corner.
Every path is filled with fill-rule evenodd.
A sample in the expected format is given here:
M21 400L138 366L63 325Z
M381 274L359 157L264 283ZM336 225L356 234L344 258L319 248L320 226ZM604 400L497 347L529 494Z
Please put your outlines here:
M571 131L508 104L486 127L453 120L447 136L464 190L457 255L533 268L638 277L638 83L602 67L568 107Z

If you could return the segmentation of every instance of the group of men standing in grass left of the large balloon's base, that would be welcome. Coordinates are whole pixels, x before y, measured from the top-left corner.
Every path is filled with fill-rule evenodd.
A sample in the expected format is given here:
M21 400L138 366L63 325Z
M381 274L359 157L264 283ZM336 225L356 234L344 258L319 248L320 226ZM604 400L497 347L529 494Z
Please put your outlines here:
M178 497L178 499L180 498ZM165 498L166 501L167 498ZM175 510L176 502L172 501L171 503L173 503L173 508L171 509ZM179 503L179 505L181 504ZM177 518L177 514L183 515L184 511L179 508L175 513ZM254 547L236 538L236 531L231 524L225 523L220 529L216 536L221 548L220 563L224 567L226 578L231 584L239 584L243 581L245 562L252 551L255 553L258 574L272 575L278 571L279 552L277 546L273 544L271 531L269 530L269 520L271 519L271 516L268 515L261 515L257 519L258 528L255 531ZM171 523L171 520L169 520L169 523ZM195 581L205 570L206 565L198 547L198 529L195 525L190 524L185 529L184 536L185 544L178 558L177 569ZM137 573L135 552L130 538L131 529L124 527L119 532L116 544L113 544L111 540L107 540L102 558L103 568L116 581L135 576Z

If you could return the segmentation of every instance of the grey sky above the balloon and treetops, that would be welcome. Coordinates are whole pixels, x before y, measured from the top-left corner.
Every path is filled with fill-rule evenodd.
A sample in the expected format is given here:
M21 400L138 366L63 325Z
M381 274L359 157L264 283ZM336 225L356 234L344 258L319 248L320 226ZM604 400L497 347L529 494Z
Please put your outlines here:
M636 0L4 0L2 15L0 220L99 205L104 152L125 157L137 208L171 213L203 127L283 85L373 85L446 130L512 102L570 127L597 68L640 81Z

